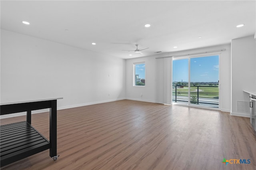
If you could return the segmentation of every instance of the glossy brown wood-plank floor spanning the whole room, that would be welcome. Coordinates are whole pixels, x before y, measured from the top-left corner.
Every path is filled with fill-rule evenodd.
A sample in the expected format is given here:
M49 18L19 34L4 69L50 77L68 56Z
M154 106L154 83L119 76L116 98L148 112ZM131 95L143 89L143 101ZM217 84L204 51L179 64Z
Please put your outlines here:
M32 126L46 138L48 114L32 115ZM25 120L1 119L1 125ZM46 150L1 169L256 169L256 132L249 118L178 105L122 100L60 110L57 142L56 161ZM225 165L223 158L250 164Z

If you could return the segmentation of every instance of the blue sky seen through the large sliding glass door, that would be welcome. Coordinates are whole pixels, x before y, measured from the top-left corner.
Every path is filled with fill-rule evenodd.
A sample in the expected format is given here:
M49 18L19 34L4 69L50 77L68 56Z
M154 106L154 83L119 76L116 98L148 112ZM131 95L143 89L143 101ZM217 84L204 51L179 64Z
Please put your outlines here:
M188 81L188 59L174 60L172 81ZM219 56L190 58L190 82L218 82Z

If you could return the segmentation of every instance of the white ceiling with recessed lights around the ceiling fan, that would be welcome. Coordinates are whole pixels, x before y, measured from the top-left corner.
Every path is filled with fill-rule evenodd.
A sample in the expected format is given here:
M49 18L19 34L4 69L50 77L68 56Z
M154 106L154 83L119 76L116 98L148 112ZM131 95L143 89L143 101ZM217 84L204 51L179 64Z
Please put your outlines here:
M1 0L0 5L1 29L123 59L230 43L256 30L255 0ZM122 51L135 50L136 43L149 49L143 55Z

